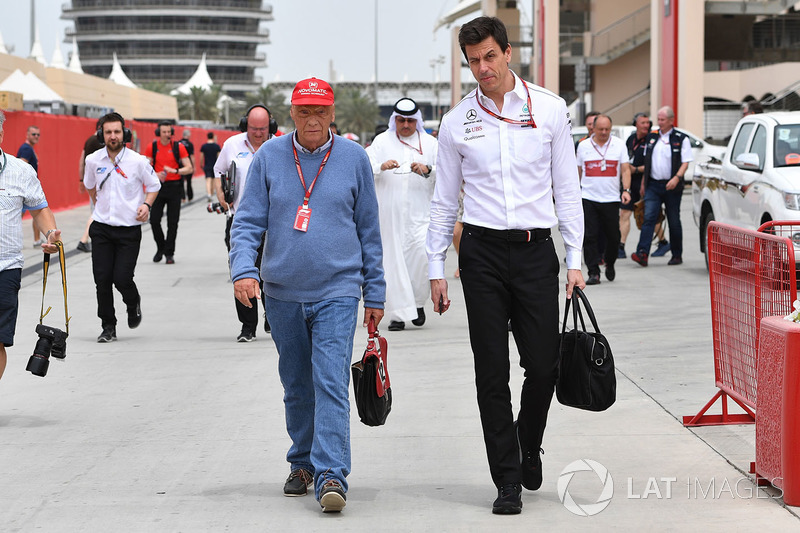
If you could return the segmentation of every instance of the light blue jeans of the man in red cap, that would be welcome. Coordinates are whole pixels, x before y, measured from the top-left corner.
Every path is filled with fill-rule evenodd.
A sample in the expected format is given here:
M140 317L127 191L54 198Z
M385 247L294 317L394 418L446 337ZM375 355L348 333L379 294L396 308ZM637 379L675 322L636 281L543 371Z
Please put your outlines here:
M335 479L347 490L350 473L350 360L358 299L321 302L266 300L272 339L278 348L286 430L292 446L286 460L294 471L314 474L315 494Z

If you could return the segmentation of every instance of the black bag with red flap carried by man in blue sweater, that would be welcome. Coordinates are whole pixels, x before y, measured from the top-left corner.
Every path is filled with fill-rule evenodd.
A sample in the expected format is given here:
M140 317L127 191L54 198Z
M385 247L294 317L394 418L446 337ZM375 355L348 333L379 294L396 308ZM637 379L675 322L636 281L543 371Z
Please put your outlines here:
M364 357L350 366L353 390L361 421L368 426L382 426L392 410L392 389L386 367L388 345L370 320L369 338Z

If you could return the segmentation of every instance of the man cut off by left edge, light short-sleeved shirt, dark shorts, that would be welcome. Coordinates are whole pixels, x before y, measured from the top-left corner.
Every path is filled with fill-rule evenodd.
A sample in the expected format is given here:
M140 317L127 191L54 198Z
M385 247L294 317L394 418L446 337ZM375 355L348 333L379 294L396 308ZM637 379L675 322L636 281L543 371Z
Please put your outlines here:
M0 111L0 144L6 116ZM22 212L28 210L47 241L42 250L58 253L61 230L33 168L0 149L0 378L6 369L6 347L14 345L24 257Z

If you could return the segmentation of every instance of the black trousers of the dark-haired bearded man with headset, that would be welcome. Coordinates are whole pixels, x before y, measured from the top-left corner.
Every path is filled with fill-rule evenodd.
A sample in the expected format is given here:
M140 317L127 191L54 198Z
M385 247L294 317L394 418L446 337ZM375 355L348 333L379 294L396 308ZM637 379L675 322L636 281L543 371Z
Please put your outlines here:
M94 221L89 226L92 239L92 272L97 288L97 316L106 326L116 326L114 291L122 294L128 308L139 303L139 290L133 281L139 246L142 242L141 226L109 226Z

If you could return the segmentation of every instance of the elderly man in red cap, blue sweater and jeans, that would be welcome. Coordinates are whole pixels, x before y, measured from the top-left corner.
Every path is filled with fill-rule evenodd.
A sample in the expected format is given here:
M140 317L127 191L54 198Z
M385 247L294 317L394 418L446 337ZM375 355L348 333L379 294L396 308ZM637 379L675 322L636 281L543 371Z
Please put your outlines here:
M364 298L364 321L383 318L378 202L372 168L358 144L332 135L333 90L316 78L292 93L296 130L256 152L231 228L234 295L260 297L284 389L290 474L286 496L312 486L324 512L346 502L350 473L350 359Z

